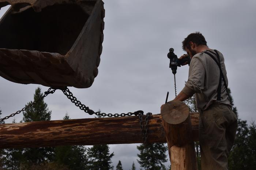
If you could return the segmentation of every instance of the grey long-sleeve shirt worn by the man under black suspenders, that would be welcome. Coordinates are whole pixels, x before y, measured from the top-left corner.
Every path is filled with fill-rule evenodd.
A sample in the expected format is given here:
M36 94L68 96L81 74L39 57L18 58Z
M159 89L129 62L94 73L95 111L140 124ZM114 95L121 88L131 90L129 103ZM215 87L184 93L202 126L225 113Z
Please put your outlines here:
M211 51L214 52L214 50ZM218 51L218 53L221 69L228 84L224 58L221 52ZM216 55L214 57L217 59ZM217 101L219 75L220 71L217 63L209 55L203 52L197 53L191 59L188 81L185 83L182 92L188 96L192 96L195 93L197 107L201 110L206 110L212 103ZM223 80L221 86L221 103L231 106Z

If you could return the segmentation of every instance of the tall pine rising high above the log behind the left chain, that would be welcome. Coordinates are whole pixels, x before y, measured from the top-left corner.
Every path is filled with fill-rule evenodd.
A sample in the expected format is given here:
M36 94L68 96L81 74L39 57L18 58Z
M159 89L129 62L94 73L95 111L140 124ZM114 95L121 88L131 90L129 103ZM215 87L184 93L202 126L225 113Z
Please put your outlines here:
M41 88L38 87L35 90L34 101L38 100L43 96L41 92ZM30 101L26 104L33 103ZM24 122L34 122L34 121L42 121L42 120L50 120L51 119L51 111L49 111L47 104L44 102L44 99L39 100L32 107L23 111L23 121ZM25 157L27 166L31 166L33 164L37 165L42 162L49 162L53 159L53 147L38 147L38 148L25 148L23 150L23 156Z

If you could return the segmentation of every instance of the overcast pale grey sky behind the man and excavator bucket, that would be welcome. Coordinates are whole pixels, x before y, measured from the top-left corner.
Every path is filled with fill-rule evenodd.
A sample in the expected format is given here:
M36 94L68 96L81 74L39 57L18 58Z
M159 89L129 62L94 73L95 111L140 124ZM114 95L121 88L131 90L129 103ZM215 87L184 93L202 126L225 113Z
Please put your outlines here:
M105 30L99 74L90 88L70 87L70 91L92 110L121 113L136 110L160 113L174 94L174 79L167 53L184 54L181 42L189 33L200 31L212 49L222 52L227 77L239 118L256 120L255 99L255 0L108 0L105 2ZM7 10L0 10L0 17ZM188 66L179 67L177 91L188 78ZM0 77L2 117L20 110L33 100L37 84L17 84ZM61 91L45 98L52 120L62 119L66 112L72 119L92 118L80 111ZM16 122L22 119L16 115ZM6 120L11 123L12 119ZM121 160L124 170L135 162L138 144L110 145L113 165ZM169 161L166 166L170 165Z

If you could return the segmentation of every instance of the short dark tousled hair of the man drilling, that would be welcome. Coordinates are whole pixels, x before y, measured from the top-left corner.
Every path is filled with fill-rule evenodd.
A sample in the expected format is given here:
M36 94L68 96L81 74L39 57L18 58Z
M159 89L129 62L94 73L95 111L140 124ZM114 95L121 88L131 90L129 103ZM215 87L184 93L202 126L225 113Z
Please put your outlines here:
M202 33L200 32L195 32L195 33L191 33L187 36L187 38L184 39L184 41L182 41L182 49L185 51L185 48L187 47L188 49L190 49L190 45L189 42L192 41L193 43L196 43L197 46L199 45L206 45L207 46L207 42L204 38L204 36L202 35Z

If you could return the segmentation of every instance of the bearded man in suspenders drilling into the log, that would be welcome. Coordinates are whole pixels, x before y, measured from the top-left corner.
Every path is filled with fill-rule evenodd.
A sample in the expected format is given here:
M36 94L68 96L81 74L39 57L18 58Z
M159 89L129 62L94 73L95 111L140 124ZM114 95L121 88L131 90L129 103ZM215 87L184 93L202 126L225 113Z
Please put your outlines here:
M191 57L191 62L188 81L174 100L184 101L195 94L202 170L227 170L237 118L228 97L223 55L208 48L200 32L189 34L182 42L182 48Z

